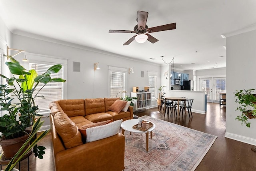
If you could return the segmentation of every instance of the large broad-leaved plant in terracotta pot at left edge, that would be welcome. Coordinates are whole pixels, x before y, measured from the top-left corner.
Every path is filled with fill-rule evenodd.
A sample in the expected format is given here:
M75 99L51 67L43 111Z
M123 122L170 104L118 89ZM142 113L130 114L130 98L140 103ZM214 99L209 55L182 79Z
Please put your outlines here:
M0 74L0 76L6 79L7 84L0 85L0 105L1 111L6 111L7 114L0 117L0 144L7 159L12 159L16 152L20 149L22 144L28 138L26 128L34 124L34 117L37 115L39 108L35 104L35 99L39 98L37 90L38 84L44 85L50 82L66 82L62 78L51 78L51 74L58 73L62 65L57 64L50 67L44 74L38 75L35 70L26 70L16 61L12 56L7 56L10 62L5 64L8 66L11 78ZM41 96L43 97L43 96ZM18 113L20 117L18 117ZM10 147L12 143L17 142L17 138L26 136L25 140L20 143L14 149ZM7 142L6 142L7 141ZM7 144L7 148L4 146ZM35 146L36 147L36 146ZM6 150L10 149L8 152ZM40 147L36 147L33 151L36 156L42 158L42 155L38 152ZM10 153L10 154L9 154Z

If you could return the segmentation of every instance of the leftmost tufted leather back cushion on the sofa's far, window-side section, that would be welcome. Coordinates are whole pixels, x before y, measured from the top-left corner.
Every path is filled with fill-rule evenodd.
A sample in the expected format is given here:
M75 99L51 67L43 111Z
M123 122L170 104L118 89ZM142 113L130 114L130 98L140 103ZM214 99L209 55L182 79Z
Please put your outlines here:
M83 99L62 99L57 102L68 117L85 116Z

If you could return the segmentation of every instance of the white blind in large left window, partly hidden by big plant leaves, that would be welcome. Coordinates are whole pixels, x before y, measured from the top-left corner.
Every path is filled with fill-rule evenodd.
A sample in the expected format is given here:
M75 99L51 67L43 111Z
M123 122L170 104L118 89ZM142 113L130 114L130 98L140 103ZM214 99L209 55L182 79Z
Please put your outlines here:
M30 69L36 70L38 75L44 74L48 68L53 65L48 64L35 64L30 63ZM51 78L62 78L64 79L63 68L56 74L51 74ZM34 95L42 88L44 84L40 83L36 87L36 91L34 91ZM61 82L50 82L46 84L38 93L37 96L43 95L45 99L41 97L36 97L35 103L38 105L40 112L44 113L49 111L49 103L54 100L63 99L63 86L64 84Z

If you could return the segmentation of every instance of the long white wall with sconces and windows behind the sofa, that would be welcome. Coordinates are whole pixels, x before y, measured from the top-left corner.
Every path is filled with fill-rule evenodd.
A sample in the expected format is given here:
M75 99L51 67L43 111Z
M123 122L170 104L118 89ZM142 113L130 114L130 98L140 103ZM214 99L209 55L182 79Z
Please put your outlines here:
M147 71L158 72L158 78L160 78L160 65L129 59L101 50L67 42L53 43L16 34L13 34L12 42L12 48L68 59L68 76L65 83L67 84L67 99L108 97L108 66L127 68L127 71L128 68L134 68L134 73L127 74L126 95L129 96L132 87L138 86L139 89L144 89L144 86L147 86ZM73 62L80 62L81 72L73 72ZM100 63L100 70L94 72L96 62ZM141 71L144 71L143 78ZM158 86L160 87L160 79Z

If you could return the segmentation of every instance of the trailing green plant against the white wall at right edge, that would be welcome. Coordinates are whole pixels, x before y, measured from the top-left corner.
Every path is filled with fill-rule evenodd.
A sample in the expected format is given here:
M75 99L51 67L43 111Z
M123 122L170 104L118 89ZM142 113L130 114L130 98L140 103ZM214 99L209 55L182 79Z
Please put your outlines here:
M236 103L241 104L236 108L236 111L241 111L241 115L237 116L236 119L241 122L241 124L246 124L250 127L249 118L256 117L256 96L253 94L255 89L248 90L236 90L234 92L236 97ZM252 116L250 116L252 115Z

